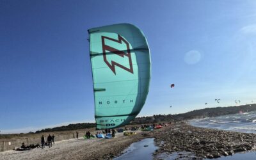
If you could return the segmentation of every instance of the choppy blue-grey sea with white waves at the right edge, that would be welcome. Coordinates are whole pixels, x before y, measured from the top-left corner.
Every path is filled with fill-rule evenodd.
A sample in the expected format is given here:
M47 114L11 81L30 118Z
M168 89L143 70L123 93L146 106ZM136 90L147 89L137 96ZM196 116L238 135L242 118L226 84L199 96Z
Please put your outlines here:
M256 111L190 120L197 127L256 133Z

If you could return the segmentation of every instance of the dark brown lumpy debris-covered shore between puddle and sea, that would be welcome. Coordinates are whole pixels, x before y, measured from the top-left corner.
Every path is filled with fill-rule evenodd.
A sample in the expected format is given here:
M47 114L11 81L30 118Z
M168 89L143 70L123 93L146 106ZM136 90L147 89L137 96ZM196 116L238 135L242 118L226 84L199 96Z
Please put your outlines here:
M256 134L194 127L186 123L165 127L154 132L154 137L159 147L155 156L191 152L198 158L211 159L256 149Z

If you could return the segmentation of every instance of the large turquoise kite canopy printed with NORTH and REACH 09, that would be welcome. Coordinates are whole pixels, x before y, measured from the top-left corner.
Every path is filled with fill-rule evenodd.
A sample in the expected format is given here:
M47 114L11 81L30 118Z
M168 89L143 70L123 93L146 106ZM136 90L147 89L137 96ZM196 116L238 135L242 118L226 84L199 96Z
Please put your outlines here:
M97 129L129 124L145 104L150 83L150 51L132 24L88 30Z

